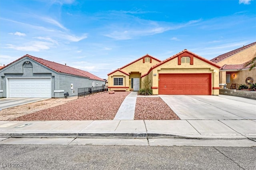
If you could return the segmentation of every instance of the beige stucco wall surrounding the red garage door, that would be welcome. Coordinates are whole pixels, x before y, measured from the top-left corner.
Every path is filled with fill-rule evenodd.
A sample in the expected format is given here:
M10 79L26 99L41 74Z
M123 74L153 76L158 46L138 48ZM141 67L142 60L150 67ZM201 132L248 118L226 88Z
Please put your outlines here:
M181 65L178 65L178 57L176 57L171 61L154 68L148 75L149 79L153 82L153 87L158 87L159 73L211 73L211 86L219 87L219 68L197 59L196 57L194 57L193 65L190 65L190 63L181 63ZM156 76L154 76L154 74L156 74ZM158 94L158 89L154 89L153 94ZM212 90L212 95L219 95L219 90Z

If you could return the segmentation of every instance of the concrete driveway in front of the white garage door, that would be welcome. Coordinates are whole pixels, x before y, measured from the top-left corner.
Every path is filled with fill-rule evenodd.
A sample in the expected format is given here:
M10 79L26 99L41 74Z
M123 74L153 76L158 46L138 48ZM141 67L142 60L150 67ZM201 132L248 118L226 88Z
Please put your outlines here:
M20 106L24 104L34 103L49 98L2 98L0 99L0 109L9 107Z

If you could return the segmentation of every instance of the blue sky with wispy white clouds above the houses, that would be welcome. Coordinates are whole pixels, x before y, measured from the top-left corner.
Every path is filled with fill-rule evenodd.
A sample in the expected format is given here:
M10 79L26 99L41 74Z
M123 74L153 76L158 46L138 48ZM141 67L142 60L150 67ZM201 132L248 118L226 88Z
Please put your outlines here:
M256 0L1 0L0 65L29 54L101 78L149 54L206 59L256 41Z

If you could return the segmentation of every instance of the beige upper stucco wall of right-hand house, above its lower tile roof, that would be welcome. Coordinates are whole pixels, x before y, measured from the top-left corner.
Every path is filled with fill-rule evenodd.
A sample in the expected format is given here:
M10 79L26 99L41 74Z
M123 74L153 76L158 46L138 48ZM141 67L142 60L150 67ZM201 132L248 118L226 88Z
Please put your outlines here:
M224 64L242 64L249 60L251 60L254 56L256 56L256 45L252 45L243 51L240 51L217 64L223 66Z

